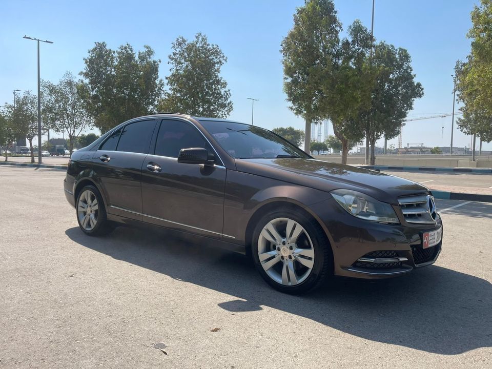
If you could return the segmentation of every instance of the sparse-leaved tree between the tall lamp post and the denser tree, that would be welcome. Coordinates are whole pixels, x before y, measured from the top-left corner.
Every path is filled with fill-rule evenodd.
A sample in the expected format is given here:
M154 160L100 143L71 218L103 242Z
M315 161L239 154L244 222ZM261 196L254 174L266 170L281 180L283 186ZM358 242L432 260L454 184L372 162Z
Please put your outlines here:
M58 84L43 81L43 106L46 115L45 126L56 133L66 132L69 139L70 155L75 140L86 128L92 126L92 116L86 110L83 82L76 81L72 73L66 72Z

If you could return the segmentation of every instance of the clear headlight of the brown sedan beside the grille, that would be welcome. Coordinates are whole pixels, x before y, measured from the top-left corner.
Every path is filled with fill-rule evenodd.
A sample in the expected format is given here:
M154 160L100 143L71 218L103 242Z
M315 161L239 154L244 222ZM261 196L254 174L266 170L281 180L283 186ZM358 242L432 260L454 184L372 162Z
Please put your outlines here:
M343 209L357 218L382 223L399 223L395 211L388 203L357 191L340 189L330 193Z

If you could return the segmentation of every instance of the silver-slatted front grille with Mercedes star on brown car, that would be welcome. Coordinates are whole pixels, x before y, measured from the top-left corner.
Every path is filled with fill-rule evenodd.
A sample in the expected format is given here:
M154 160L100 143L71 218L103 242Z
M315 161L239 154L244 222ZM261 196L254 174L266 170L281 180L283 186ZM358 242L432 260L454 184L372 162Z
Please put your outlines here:
M434 197L416 195L398 198L403 217L408 223L435 224L437 213Z

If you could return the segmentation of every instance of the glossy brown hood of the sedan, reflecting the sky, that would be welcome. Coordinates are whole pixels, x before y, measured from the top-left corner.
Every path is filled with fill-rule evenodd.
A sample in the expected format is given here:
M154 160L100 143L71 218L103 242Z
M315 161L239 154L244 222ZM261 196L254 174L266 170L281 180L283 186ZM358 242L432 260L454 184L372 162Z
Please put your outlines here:
M398 204L398 197L428 193L429 190L408 179L341 165L302 158L237 159L239 172L278 179L321 191L347 189L359 191L379 201Z

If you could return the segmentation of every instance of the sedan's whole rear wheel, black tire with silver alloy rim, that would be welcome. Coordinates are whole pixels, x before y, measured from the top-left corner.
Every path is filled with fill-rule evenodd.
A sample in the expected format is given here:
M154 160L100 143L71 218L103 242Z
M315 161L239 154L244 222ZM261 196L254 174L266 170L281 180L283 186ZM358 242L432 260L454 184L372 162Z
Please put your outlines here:
M101 236L114 227L107 219L103 197L92 185L80 190L75 203L78 226L86 235Z

